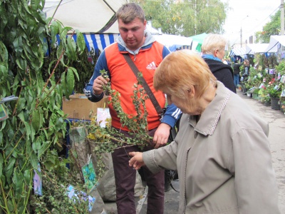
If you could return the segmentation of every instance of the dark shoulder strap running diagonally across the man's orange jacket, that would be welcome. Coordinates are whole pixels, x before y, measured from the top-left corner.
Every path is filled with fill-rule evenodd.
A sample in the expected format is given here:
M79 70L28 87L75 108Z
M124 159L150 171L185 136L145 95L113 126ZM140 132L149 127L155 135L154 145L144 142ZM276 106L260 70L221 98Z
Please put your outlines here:
M135 63L130 58L130 55L129 54L123 54L123 56L125 57L125 61L127 61L130 68L132 68L132 71L133 71L133 73L135 73L135 76L138 78L138 72L140 72L140 71L138 71L137 66L135 66ZM153 106L155 106L155 110L157 111L158 115L161 116L164 113L164 111L160 107L160 104L157 102L157 99L155 98L154 94L152 93L152 91L150 89L150 86L147 85L145 78L141 77L140 81L142 83L143 88L145 88L145 92L150 97L150 101L152 101Z

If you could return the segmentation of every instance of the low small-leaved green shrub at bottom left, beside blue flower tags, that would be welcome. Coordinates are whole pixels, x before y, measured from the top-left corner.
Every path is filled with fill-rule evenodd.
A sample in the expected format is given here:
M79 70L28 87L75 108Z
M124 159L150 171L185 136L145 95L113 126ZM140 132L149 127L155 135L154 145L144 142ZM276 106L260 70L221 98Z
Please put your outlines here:
M31 195L31 210L34 213L87 213L88 200L82 190L87 190L83 180L78 177L79 168L68 170L66 163L72 160L58 158L55 150L48 151L42 158L41 178L43 195ZM68 197L68 185L72 184L78 198Z

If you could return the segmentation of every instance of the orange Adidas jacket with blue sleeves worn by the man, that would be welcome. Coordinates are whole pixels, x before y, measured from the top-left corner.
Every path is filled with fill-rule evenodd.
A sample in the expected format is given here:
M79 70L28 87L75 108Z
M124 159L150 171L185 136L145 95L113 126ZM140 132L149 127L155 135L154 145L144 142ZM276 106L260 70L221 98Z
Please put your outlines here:
M151 35L150 38L152 39ZM127 51L125 48L125 44L123 43L123 40L120 39L120 36L117 42L105 48L98 58L90 82L86 85L86 88L84 88L84 92L90 101L97 102L103 98L103 93L100 96L93 94L92 86L95 78L101 75L100 71L105 69L110 78L111 88L120 93L120 103L123 111L128 115L137 114L135 106L133 105L132 96L134 84L138 83L138 80L123 57L123 54L129 53L130 58L133 59L138 70L142 72L143 78L145 78L148 86L150 86L150 89L152 90L152 93L154 93L161 108L165 107L165 94L162 93L162 91L155 91L155 88L153 88L153 76L157 66L167 54L170 54L170 51L157 41L153 39L150 40L150 38L146 39L145 44L137 50L136 53L132 54L130 53L131 51ZM180 108L171 104L167 106L165 115L160 121L160 116L158 116L150 99L145 101L145 105L147 109L147 124L149 130L157 128L160 123L167 123L173 127L181 115ZM127 127L121 126L120 118L118 118L112 104L109 104L109 108L112 117L112 126L129 131Z

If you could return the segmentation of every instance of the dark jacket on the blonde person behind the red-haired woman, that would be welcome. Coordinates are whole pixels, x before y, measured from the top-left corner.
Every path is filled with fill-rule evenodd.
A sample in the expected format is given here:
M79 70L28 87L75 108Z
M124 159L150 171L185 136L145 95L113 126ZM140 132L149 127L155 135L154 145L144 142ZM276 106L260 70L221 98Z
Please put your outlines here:
M218 81L222 82L232 92L237 93L236 87L234 87L234 73L231 66L209 58L204 58L204 61Z

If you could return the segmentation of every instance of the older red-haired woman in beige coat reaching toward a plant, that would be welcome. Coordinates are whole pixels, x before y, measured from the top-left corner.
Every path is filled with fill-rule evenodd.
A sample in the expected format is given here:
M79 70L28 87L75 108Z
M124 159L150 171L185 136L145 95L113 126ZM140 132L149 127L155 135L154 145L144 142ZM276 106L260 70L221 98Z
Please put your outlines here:
M182 110L180 131L168 146L129 153L129 165L177 169L179 213L280 213L268 124L189 50L160 63L154 86Z

